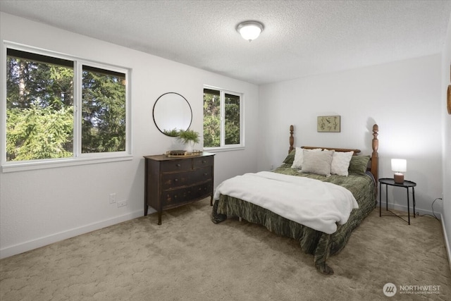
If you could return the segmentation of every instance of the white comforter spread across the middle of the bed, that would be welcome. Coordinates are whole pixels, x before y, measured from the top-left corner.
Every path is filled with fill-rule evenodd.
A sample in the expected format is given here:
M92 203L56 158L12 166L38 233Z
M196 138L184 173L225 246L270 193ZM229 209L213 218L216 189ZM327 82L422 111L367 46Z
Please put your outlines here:
M336 223L346 223L359 208L352 193L339 185L305 177L261 171L223 181L214 199L229 195L324 233L334 233Z

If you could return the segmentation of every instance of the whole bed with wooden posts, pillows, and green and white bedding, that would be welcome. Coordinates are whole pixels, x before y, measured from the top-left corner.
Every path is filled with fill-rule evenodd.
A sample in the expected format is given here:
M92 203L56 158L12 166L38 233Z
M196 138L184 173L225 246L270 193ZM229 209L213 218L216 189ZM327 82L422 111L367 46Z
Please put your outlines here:
M340 189L347 190L352 193L355 204L352 208L347 209L349 212L347 216L343 219L338 219L337 222L333 222L333 225L328 221L327 228L321 228L316 226L315 221L311 219L303 219L300 217L292 218L291 215L284 217L285 214L280 214L281 207L279 202L281 199L285 199L285 190L278 190L274 188L273 190L278 190L280 192L279 197L276 197L272 202L276 205L276 209L273 207L266 206L267 200L265 199L263 203L254 202L255 199L260 199L260 196L251 196L249 199L249 194L253 191L241 192L242 189L257 190L252 188L253 185L243 185L241 188L239 183L244 178L234 177L232 179L226 180L216 188L214 196L214 204L211 211L211 221L214 223L221 223L225 221L228 216L237 216L240 219L245 219L250 223L257 223L265 226L269 231L276 233L277 235L283 235L290 238L294 238L299 241L302 250L308 254L312 254L314 257L314 265L323 274L333 274L333 269L328 266L327 259L330 255L336 254L342 250L347 241L350 238L352 231L359 226L359 224L365 219L366 216L376 207L376 194L377 194L377 179L378 179L378 125L373 125L371 135L371 148L373 152L371 155L361 155L359 149L342 149L334 147L294 147L294 127L290 125L290 148L288 151L288 156L283 160L283 164L278 166L278 168L271 171L271 173L266 172L263 174L246 174L243 176L251 177L255 176L275 178L273 182L278 182L279 178L287 178L290 182L301 181L298 178L307 178L307 181L311 179L320 180L323 184L330 187L340 186ZM317 151L317 154L313 154ZM299 161L299 156L301 152L304 156L304 161L301 169L299 170L296 162ZM324 176L323 174L317 174L316 171L308 172L311 166L321 164L311 164L309 159L316 156L330 156L330 154L320 154L323 152L331 152L337 157L342 157L350 155L349 166L347 167L347 176L343 175L343 171L337 171L335 174L330 176ZM298 156L296 155L298 154ZM333 155L332 155L333 157ZM298 162L299 163L299 162ZM329 162L329 164L331 164ZM309 166L308 166L309 165ZM304 171L304 167L306 168ZM343 169L343 167L342 167ZM273 176L271 176L273 175ZM239 179L239 180L237 180ZM235 180L235 183L233 182ZM230 183L228 183L231 181ZM305 180L302 180L305 181ZM230 184L232 189L224 190L224 183ZM319 181L315 181L318 183ZM332 183L335 185L330 185L326 183ZM237 185L237 186L234 186ZM283 184L285 185L285 184ZM244 186L249 188L244 188ZM278 186L275 186L278 187ZM280 186L287 187L287 189L294 189L295 186L288 185ZM279 187L279 188L280 188ZM321 186L322 187L322 186ZM221 188L221 189L220 189ZM345 188L345 189L343 189ZM298 188L296 188L298 189ZM219 190L226 191L220 192ZM228 193L228 191L233 193ZM266 192L265 192L266 193ZM297 193L297 192L296 192ZM241 197L243 196L243 197ZM328 195L330 197L330 195ZM265 197L265 195L261 196ZM286 197L289 198L289 197ZM246 200L245 200L246 199ZM353 201L352 201L353 202ZM311 202L315 203L315 202ZM347 205L349 207L349 205ZM358 208L356 208L358 207ZM269 208L269 209L268 209ZM282 209L285 207L282 207ZM322 214L319 214L321 216ZM346 214L345 214L346 215ZM306 216L304 214L303 216ZM307 217L315 216L316 214L311 214L309 211ZM321 219L321 218L318 218ZM306 221L306 222L304 222ZM309 225L309 226L307 226ZM332 228L330 228L332 227ZM335 228L334 228L335 227ZM321 231L322 230L322 231Z

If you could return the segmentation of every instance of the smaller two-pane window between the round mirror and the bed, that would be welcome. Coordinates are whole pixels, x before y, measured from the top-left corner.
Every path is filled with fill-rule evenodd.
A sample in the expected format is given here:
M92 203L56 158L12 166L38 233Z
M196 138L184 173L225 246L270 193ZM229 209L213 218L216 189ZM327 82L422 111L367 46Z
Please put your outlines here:
M244 147L242 95L204 87L204 148Z

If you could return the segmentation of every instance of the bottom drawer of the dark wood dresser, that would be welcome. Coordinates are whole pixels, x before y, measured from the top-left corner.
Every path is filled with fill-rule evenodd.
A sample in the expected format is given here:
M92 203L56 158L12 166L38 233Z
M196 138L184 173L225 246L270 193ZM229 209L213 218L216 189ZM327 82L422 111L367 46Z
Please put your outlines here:
M190 202L191 199L197 199L202 196L211 195L213 183L208 182L192 187L180 188L177 190L167 190L163 192L163 207L172 207L178 204Z

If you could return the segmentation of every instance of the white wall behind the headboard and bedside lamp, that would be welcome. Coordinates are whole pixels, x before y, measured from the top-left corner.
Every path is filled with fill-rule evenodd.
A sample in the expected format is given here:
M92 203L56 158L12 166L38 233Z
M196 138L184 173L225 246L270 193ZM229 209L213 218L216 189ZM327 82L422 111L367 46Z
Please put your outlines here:
M416 209L431 213L433 199L442 196L440 54L264 85L259 94L259 169L285 158L290 124L297 146L371 154L371 128L378 123L379 177L393 178L390 159L404 158L405 178L417 183ZM316 117L328 115L341 116L340 133L316 132ZM389 202L407 211L406 191L390 189ZM434 210L440 207L436 202Z

